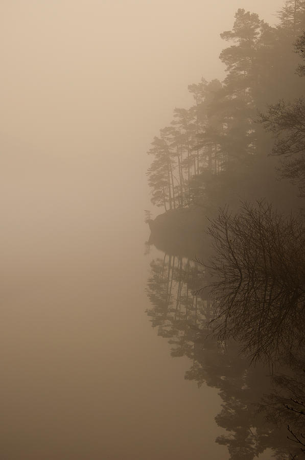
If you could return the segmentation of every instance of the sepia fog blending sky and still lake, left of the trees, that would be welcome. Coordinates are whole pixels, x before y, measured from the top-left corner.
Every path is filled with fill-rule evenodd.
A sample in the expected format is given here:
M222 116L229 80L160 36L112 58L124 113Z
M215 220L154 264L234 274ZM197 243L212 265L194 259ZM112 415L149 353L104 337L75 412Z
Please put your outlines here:
M3 0L4 460L229 458L217 389L184 380L145 314L146 152L187 85L224 77L236 10L280 7Z

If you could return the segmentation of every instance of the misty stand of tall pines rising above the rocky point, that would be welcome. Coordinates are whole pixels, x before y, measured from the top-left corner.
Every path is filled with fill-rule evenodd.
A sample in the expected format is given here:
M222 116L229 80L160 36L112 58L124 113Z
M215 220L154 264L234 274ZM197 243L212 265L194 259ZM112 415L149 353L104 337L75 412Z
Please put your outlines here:
M252 197L290 203L297 189L276 181L275 167L299 180L304 194L305 0L286 1L277 15L271 27L239 9L232 30L221 34L230 43L220 54L225 79L191 84L194 105L176 108L154 137L147 172L154 205L218 209Z

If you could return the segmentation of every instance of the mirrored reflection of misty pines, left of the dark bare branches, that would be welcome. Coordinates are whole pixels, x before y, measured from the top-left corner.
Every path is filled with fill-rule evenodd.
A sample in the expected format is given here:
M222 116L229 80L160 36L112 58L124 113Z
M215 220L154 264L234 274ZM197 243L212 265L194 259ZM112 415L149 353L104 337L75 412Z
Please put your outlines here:
M294 452L286 425L280 431L266 422L263 411L257 413L257 403L270 390L268 369L259 363L249 367L236 341L226 349L219 346L207 327L215 316L213 303L194 295L204 277L202 266L188 259L165 255L152 261L147 285L152 326L171 343L172 357L190 358L185 379L219 388L223 404L216 422L226 433L216 442L227 447L230 459L252 460L270 448L273 458L286 460Z

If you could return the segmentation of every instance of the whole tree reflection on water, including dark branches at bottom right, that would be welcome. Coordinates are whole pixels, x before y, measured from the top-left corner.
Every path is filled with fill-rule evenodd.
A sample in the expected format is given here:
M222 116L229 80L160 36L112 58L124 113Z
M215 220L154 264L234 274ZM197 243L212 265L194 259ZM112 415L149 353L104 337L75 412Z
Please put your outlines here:
M169 341L173 358L190 359L186 380L219 388L223 403L215 420L227 434L216 442L227 447L232 460L301 458L305 363L277 370L250 365L237 341L224 347L211 334L208 322L216 311L212 299L198 292L205 277L200 264L165 253L150 268L147 314L152 327Z

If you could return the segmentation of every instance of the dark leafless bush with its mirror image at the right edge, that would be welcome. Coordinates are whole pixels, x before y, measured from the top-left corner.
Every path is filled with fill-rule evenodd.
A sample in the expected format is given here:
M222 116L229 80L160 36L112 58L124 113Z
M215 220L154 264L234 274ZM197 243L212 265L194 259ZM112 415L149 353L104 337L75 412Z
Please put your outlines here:
M235 337L254 360L295 356L305 345L305 233L271 205L220 212L209 228L221 340Z

